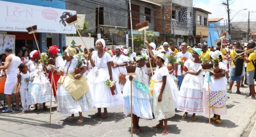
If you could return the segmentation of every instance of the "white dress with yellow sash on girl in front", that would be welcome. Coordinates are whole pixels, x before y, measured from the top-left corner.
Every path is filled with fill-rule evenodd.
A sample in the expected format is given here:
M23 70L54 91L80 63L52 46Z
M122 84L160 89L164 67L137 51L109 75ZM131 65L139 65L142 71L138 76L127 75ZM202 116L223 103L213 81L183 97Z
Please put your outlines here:
M162 94L162 101L158 102L158 97L163 84L163 76L167 76L166 86ZM174 99L175 97L173 97L173 95L176 94L174 92L177 92L178 89L175 86L174 81L171 81L167 67L159 68L159 66L157 66L153 76L153 81L155 81L153 87L153 112L156 121L173 117L175 115L176 104Z

